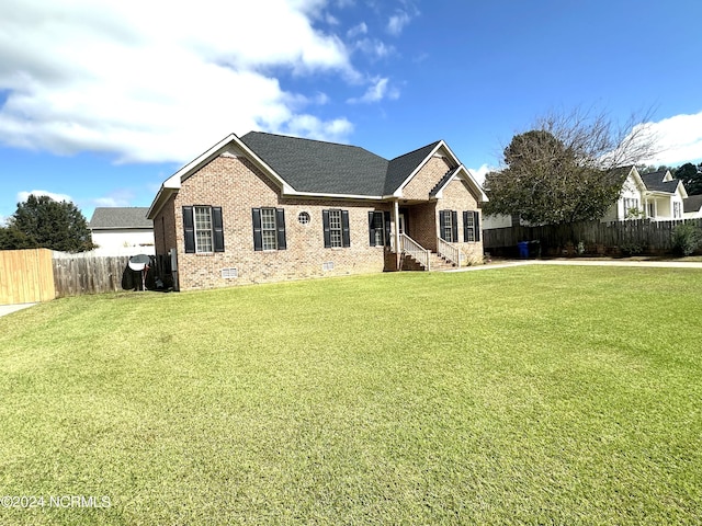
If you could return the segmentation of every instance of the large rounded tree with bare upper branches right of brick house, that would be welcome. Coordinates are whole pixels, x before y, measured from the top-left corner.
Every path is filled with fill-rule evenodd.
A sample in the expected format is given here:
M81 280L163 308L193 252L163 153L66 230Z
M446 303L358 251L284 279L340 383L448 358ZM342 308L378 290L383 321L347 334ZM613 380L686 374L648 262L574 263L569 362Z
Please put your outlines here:
M620 195L625 167L655 145L645 126L624 129L603 115L542 118L505 148L505 168L487 174L485 214L552 225L600 219Z

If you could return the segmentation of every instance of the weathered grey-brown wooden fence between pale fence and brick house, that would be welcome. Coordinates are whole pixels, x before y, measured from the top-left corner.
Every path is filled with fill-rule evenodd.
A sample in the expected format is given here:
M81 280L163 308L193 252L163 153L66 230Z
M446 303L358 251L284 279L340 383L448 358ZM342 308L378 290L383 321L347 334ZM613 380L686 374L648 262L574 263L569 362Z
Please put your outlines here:
M129 262L126 255L95 256L90 253L54 252L56 296L122 290L122 276Z

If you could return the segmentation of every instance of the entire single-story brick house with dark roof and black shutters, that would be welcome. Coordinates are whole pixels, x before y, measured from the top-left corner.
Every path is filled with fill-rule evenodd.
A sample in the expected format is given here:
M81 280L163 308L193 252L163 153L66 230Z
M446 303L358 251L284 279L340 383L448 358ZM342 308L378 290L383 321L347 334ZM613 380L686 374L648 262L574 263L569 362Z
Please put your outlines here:
M166 180L147 217L188 290L482 263L485 201L442 140L388 161L251 132Z

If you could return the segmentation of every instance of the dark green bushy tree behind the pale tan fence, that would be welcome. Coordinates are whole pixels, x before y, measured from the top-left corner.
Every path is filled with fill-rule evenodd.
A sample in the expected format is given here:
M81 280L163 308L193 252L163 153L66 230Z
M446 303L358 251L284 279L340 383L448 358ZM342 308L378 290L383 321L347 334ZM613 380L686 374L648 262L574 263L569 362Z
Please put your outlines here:
M72 203L60 203L46 195L30 195L9 219L0 235L0 248L42 247L63 252L83 252L94 248L86 218Z

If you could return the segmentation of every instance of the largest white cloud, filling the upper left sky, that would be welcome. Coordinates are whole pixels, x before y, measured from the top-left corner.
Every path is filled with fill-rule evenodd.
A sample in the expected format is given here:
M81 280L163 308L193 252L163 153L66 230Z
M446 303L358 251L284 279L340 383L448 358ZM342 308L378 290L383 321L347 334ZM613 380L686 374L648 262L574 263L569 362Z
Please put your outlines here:
M312 24L326 3L4 0L0 142L182 162L231 132L342 140L343 116L305 111L326 95L286 92L270 72L361 81L341 39Z

